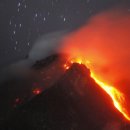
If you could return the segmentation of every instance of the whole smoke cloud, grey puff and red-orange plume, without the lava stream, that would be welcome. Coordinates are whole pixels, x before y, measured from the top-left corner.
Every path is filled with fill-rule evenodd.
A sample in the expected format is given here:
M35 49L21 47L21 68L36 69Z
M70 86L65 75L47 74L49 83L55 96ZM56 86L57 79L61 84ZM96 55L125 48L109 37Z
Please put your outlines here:
M11 65L11 68L12 66L30 67L35 61L44 59L58 50L69 53L72 58L84 57L91 63L91 68L96 74L99 74L99 79L103 77L103 81L129 95L129 12L125 9L103 12L93 16L86 25L64 37L66 32L43 36L34 44L28 58Z

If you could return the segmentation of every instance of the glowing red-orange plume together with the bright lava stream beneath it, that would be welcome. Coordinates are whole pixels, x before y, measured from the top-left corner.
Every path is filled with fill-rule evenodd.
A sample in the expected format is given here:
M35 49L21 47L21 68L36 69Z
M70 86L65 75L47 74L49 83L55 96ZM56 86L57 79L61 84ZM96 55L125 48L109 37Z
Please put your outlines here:
M59 51L68 53L70 62L85 64L115 108L130 121L129 12L114 9L98 14L62 42Z

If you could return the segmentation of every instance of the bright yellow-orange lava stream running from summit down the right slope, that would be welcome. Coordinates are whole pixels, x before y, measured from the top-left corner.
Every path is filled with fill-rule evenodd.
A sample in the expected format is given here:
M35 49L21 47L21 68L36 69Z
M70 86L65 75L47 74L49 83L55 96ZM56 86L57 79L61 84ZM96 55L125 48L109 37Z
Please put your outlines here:
M91 63L89 61L82 60L81 58L75 58L71 61L71 63L79 63L84 64L86 67L89 67L91 71L91 77L95 80L95 82L103 89L105 92L111 97L114 106L116 109L123 114L123 116L130 121L130 116L126 109L126 100L125 96L122 92L116 89L116 87L108 85L102 81L100 81L96 76L96 74L91 69ZM67 68L68 69L68 68Z

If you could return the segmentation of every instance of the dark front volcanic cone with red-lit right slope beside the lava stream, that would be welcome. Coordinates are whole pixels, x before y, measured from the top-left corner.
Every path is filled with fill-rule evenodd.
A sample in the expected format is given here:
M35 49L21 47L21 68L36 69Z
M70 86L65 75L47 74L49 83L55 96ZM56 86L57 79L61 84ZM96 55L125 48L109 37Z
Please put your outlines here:
M120 130L123 123L123 116L90 71L75 63L52 87L8 115L1 129Z

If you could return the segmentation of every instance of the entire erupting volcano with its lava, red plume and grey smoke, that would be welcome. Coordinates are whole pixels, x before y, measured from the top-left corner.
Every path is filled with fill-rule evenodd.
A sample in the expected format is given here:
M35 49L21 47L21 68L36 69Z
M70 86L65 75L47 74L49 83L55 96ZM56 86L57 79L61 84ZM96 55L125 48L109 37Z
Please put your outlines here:
M130 130L129 13L110 10L46 35L5 69L0 129Z

